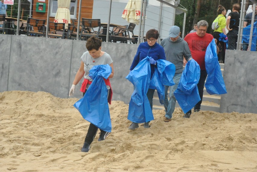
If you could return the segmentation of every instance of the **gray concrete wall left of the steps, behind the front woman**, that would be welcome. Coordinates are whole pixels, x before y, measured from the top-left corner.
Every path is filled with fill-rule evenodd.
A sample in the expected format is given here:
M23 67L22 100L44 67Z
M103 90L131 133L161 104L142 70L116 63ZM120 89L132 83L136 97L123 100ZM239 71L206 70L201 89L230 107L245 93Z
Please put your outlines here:
M85 41L24 37L0 34L0 91L45 91L67 98L80 57L87 51ZM113 100L129 103L133 85L125 79L137 44L102 43L114 64ZM74 97L81 98L82 80Z

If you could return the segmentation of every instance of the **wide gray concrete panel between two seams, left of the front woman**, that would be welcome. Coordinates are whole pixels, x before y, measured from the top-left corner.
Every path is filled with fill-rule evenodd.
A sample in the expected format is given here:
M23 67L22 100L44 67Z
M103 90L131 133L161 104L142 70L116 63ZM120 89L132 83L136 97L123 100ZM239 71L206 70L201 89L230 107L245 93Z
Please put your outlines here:
M8 91L67 97L72 40L12 36Z

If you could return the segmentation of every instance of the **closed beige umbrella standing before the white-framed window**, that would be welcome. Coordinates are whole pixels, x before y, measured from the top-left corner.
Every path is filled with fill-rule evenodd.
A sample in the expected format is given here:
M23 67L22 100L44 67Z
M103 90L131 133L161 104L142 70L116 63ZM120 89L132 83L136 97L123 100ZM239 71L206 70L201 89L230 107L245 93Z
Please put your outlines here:
M58 8L54 18L55 23L65 23L65 29L71 23L70 4L71 0L58 0Z

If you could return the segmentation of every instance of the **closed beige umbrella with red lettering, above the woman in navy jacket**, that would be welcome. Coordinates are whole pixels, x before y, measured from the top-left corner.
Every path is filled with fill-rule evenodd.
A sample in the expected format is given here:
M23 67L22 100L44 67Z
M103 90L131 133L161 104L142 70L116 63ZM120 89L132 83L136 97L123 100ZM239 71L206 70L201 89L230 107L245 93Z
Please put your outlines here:
M129 0L122 14L129 23L139 23L141 15L141 2L142 0Z

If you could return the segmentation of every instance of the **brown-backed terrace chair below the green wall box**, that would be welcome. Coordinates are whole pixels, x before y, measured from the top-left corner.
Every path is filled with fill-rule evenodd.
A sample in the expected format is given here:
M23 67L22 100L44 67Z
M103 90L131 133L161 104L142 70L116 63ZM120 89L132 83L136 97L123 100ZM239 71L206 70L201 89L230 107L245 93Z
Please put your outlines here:
M46 20L28 18L27 19L27 36L45 37L45 23ZM36 28L37 30L34 30Z

